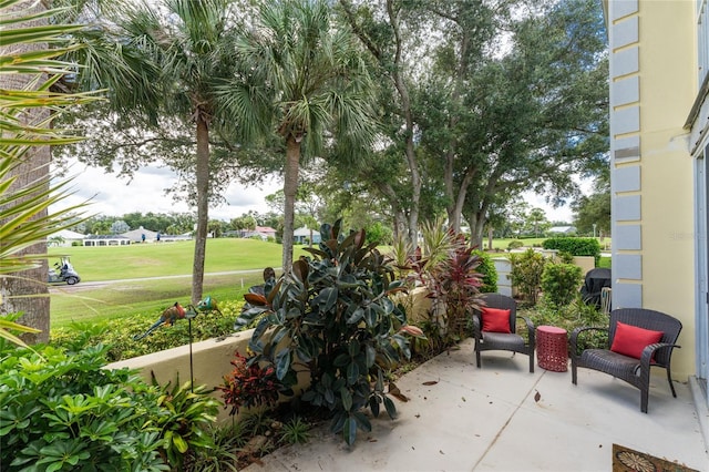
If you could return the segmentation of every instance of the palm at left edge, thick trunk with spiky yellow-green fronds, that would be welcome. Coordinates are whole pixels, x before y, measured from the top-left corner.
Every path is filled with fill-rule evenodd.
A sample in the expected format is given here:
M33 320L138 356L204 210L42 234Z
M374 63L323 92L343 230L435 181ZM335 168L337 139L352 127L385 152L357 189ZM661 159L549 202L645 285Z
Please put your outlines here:
M69 215L78 208L48 211L66 195L65 183L50 185L50 145L76 141L53 129L52 119L90 100L51 91L73 70L54 58L72 48L66 34L81 29L50 24L55 13L38 2L0 2L0 312L23 312L20 321L29 325L1 318L0 337L18 343L7 328L31 334L30 342L49 340L45 239L71 225Z

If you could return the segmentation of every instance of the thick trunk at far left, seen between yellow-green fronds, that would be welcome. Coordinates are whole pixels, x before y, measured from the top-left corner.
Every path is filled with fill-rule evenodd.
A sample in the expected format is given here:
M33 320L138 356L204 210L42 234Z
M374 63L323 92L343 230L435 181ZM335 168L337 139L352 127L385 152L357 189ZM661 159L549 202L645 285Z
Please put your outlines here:
M31 7L30 1L19 2L13 7L14 10ZM35 2L33 6L35 11L44 9L44 3ZM6 11L6 13L8 13ZM47 24L47 19L32 21L30 24L41 27ZM0 43L1 44L1 43ZM11 45L17 53L30 50L47 49L47 44L28 44L21 47ZM19 48L22 48L21 50ZM7 54L8 48L0 45L0 53ZM27 74L0 74L0 89L4 90L23 90L33 79L33 75ZM40 81L40 82L43 82ZM32 124L49 117L48 109L29 109L21 116L23 124ZM12 171L11 175L17 177L9 192L18 192L28 184L43 182L43 191L49 188L49 163L51 160L51 150L49 146L31 147L23 156L23 162ZM0 206L0 211L3 207ZM38 218L47 216L47 211L37 215ZM1 244L1 242L0 242ZM41 240L25 248L18 255L47 255L47 242ZM0 276L0 314L18 314L22 312L22 317L18 320L24 326L41 330L39 334L23 334L22 340L28 343L48 342L50 328L50 299L48 280L47 259L42 259L39 268L23 270L16 274Z

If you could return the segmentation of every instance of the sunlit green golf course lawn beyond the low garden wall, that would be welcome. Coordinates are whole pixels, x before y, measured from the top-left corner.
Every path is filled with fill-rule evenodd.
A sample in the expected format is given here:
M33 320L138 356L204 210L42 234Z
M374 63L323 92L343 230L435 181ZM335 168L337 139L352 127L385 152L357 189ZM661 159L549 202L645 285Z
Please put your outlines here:
M296 248L296 258L305 254L301 248ZM209 239L204 295L217 300L242 300L249 286L263 283L264 267L280 266L281 252L280 245L256 239ZM58 285L52 290L51 328L72 321L160 314L175 301L189 302L194 243L62 247L51 248L49 254L50 264L61 255L70 256L82 279L75 287ZM244 270L248 273L234 274ZM106 280L123 281L89 285Z

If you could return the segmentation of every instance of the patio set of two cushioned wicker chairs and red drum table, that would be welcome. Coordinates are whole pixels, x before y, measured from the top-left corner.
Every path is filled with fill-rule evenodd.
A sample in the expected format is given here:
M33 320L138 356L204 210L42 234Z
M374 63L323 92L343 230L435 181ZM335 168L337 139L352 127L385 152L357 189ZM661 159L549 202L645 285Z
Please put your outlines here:
M534 372L534 353L545 370L565 372L571 358L572 382L577 384L577 369L586 368L608 373L640 390L640 410L647 413L650 369L667 372L672 397L677 397L671 380L671 355L682 329L681 322L669 315L644 308L615 309L609 314L607 328L576 328L567 338L565 329L553 326L534 327L526 324L527 339L516 334L517 309L512 297L501 294L483 295L483 306L473 316L475 361L482 367L481 353L505 350L530 357L530 372ZM606 331L605 349L579 349L584 336L592 331Z

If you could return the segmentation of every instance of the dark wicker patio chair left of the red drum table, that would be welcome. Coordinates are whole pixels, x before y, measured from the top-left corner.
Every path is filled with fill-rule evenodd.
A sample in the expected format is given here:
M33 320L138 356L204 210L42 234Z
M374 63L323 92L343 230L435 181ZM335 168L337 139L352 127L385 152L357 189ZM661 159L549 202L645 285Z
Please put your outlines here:
M481 367L480 353L482 351L505 350L530 356L530 372L534 372L534 325L528 318L520 317L524 319L527 327L528 341L525 342L524 338L516 334L517 304L514 298L501 294L484 294L481 305L489 308L508 309L511 332L483 331L482 312L480 310L473 312L473 337L475 338L475 360L477 368Z

